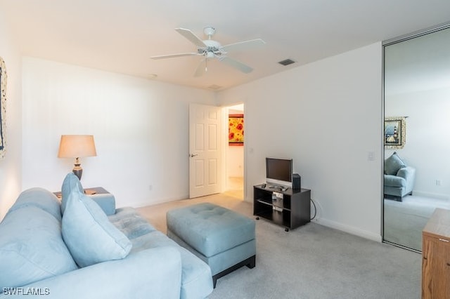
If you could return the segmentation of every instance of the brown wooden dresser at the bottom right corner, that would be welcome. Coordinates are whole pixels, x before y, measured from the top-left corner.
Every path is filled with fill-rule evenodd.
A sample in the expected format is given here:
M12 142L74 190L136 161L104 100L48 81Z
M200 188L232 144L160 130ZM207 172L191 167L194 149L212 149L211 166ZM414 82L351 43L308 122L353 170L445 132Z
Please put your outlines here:
M436 208L422 242L422 298L450 298L450 210Z

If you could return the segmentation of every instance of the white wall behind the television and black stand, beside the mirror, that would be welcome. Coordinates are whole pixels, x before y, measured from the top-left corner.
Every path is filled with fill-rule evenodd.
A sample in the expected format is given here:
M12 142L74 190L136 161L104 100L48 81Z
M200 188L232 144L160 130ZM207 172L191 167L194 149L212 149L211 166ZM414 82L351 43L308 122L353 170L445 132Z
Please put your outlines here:
M221 105L245 103L245 200L265 157L291 157L318 222L381 240L381 53L376 43L219 92Z

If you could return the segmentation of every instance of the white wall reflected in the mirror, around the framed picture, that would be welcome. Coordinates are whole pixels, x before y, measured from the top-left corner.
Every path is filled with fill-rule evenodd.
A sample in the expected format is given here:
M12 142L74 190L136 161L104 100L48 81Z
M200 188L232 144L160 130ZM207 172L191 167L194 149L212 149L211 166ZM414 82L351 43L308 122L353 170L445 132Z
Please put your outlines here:
M415 88L416 86L411 86ZM409 166L416 168L413 193L450 198L450 88L392 94L385 100L387 117L406 119L403 149L386 150L385 158L397 152ZM439 180L440 185L436 184Z

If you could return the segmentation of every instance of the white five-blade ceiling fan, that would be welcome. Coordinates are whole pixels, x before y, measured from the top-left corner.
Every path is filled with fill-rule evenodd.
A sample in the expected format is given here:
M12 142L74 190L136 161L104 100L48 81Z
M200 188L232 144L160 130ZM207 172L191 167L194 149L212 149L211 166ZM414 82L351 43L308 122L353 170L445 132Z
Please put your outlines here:
M233 51L245 51L252 50L254 48L259 48L263 46L265 41L262 39L252 39L250 41L240 41L236 44L228 44L225 46L221 46L218 41L214 41L211 37L216 32L214 27L205 27L203 32L208 39L202 40L189 29L184 28L175 28L176 32L184 36L188 41L195 44L197 46L197 51L192 53L179 53L179 54L171 54L171 55L160 55L153 56L152 59L165 59L165 58L176 58L176 57L184 57L184 56L202 56L203 59L200 61L197 69L195 70L194 77L200 77L201 75L207 72L207 60L217 58L220 62L224 62L227 65L234 67L235 69L240 70L245 74L252 72L252 67L243 64L242 62L235 60L233 58L229 58L226 54Z

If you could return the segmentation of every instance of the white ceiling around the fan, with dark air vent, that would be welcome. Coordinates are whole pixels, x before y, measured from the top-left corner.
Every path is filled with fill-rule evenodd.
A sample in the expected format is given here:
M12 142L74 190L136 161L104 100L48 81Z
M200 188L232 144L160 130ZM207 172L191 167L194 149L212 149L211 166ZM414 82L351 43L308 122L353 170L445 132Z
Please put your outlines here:
M449 0L0 0L0 9L23 55L219 89L450 21ZM150 59L195 51L174 28L205 38L207 26L222 45L266 41L229 55L253 72L212 61L193 77L200 57ZM285 58L296 63L277 63Z

